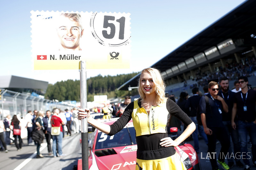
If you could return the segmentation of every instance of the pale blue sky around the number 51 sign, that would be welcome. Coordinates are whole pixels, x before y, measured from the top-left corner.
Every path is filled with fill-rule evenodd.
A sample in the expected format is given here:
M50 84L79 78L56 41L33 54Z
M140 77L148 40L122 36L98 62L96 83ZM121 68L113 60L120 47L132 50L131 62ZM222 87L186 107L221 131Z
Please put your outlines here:
M0 76L19 76L55 84L79 80L78 70L34 70L30 11L130 13L130 69L87 70L87 78L140 72L235 9L244 0L44 0L4 1L0 6ZM49 41L51 37L49 37Z

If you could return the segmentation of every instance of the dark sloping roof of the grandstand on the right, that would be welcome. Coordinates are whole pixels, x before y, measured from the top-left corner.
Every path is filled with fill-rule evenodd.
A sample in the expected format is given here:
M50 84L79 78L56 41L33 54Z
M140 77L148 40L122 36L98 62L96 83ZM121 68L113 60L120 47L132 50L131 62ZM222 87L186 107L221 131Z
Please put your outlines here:
M221 4L220 4L221 5ZM227 53L221 54L216 58L207 59L205 62L196 64L193 67L186 67L187 69L179 71L176 74L166 76L171 78L183 72L193 70L204 64L210 63L216 59L233 55L234 53L243 53L256 46L256 1L247 0L234 10L214 22L212 25L205 28L203 31L195 35L193 38L176 48L170 54L153 64L151 67L159 69L164 72L173 66L177 66L181 62L194 57L200 53L205 53L206 50L212 47L217 47L223 41L232 39L235 44L235 49ZM218 49L219 50L219 49ZM234 55L233 55L234 56ZM138 85L138 78L140 74L136 75L123 85L118 90L127 90L128 87L135 87Z

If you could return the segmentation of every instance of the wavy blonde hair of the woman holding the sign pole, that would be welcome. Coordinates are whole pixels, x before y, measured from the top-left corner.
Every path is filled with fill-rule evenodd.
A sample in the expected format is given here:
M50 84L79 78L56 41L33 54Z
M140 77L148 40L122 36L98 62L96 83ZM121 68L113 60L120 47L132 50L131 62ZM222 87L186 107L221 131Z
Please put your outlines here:
M139 94L140 94L140 99L142 101L145 99L145 93L142 90L140 82L141 82L141 75L144 72L148 72L151 75L152 79L153 79L153 82L154 82L154 85L155 85L155 92L156 92L155 103L157 105L159 105L164 100L167 99L165 97L165 84L164 84L163 76L161 75L160 71L155 69L155 68L146 68L146 69L141 71L138 91L139 91Z

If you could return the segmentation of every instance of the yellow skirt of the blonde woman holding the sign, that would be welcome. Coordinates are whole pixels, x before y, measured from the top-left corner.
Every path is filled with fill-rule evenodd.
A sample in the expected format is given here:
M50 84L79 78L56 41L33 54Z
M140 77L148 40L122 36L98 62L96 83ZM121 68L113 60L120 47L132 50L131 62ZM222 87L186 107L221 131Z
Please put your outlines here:
M180 162L179 155L174 155L162 159L141 160L137 159L136 170L187 170Z

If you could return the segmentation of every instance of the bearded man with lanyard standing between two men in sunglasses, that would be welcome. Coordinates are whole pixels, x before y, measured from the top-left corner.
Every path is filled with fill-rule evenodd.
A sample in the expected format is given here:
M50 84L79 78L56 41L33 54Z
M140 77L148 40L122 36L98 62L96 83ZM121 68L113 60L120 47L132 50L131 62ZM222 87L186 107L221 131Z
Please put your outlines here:
M231 115L232 115L232 108L234 103L234 95L235 92L232 92L229 90L229 80L227 77L222 77L220 79L220 88L218 95L221 96L225 102L228 105L228 113L223 112L222 113L222 122L225 125L225 128L228 132L228 139L230 141L230 136L232 138L233 147L234 147L234 154L240 153L240 141L239 141L239 135L237 129L233 129L231 127ZM235 120L236 121L236 120ZM228 166L229 168L232 168L234 166L233 159L236 161L236 165L238 167L244 167L244 165L240 161L240 157L234 156L232 157L232 148L229 147L228 150Z

